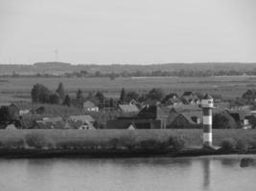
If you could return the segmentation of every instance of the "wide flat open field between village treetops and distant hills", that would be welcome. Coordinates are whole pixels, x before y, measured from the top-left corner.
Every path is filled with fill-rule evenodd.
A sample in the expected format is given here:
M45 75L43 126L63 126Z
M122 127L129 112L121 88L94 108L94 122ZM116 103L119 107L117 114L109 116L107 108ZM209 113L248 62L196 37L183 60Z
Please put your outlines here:
M178 95L184 91L193 91L221 94L224 98L232 98L242 96L247 89L255 88L256 77L119 77L114 80L104 77L10 77L0 80L0 102L30 101L30 92L35 83L41 83L55 91L59 82L63 83L65 91L70 95L81 89L84 93L102 91L105 96L117 97L123 87L139 93L157 87L162 88L165 93L175 92Z

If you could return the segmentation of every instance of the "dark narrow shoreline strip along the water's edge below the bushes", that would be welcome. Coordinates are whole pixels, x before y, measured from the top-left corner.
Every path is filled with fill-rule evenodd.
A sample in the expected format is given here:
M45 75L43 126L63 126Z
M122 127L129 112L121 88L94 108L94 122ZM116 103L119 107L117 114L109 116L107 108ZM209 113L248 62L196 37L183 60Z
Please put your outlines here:
M255 155L256 150L245 153L238 151L221 151L205 149L185 149L181 152L163 152L150 150L98 150L88 151L82 149L58 150L58 149L0 149L0 159L132 159L132 158L193 158L220 155Z

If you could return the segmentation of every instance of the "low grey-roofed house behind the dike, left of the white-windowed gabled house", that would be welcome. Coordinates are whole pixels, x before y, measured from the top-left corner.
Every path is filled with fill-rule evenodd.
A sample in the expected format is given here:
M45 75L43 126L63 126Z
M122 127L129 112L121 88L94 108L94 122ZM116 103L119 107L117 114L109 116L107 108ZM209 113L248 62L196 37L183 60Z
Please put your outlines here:
M44 117L35 120L34 129L64 129L64 121L62 117Z

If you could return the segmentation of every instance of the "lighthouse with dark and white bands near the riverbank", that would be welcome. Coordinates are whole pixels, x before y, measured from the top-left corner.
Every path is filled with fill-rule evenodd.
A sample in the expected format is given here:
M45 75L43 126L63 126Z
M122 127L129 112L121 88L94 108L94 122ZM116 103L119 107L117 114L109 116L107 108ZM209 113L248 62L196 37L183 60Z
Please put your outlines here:
M213 124L213 108L214 99L210 95L205 95L201 99L202 108L202 124L203 124L203 146L212 146L213 135L212 135L212 124Z

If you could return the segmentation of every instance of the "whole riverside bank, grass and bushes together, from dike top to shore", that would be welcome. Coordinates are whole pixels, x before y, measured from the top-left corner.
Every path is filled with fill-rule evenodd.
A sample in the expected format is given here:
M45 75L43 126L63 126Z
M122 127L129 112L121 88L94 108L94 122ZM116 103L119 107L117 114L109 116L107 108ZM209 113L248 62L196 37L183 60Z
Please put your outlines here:
M1 130L0 155L90 155L90 156L151 156L173 155L201 145L201 130ZM256 130L215 130L215 145L236 149L246 142L256 147ZM231 143L230 143L231 142ZM243 148L244 148L243 143ZM234 147L234 148L231 148ZM241 147L241 146L240 146ZM221 151L224 152L224 151ZM198 152L197 155L207 153Z

